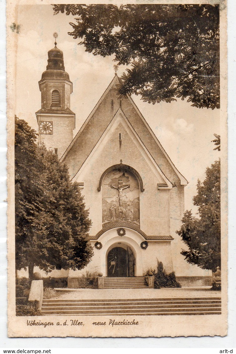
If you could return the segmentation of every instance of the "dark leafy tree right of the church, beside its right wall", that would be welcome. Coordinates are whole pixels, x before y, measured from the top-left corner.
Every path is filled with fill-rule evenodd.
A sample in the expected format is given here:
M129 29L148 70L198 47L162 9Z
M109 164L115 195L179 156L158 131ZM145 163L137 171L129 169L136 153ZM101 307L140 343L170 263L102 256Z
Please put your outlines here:
M206 179L197 182L194 205L200 218L187 210L182 219L180 235L188 250L182 250L188 263L213 272L220 267L220 160L206 169Z

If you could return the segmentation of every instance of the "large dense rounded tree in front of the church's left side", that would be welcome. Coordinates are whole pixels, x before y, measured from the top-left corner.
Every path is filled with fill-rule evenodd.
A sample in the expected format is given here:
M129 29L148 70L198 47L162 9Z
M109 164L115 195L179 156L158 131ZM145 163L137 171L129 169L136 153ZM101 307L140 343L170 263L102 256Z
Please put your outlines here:
M15 137L16 268L28 267L30 279L35 266L84 268L93 251L79 185L24 120L16 118Z

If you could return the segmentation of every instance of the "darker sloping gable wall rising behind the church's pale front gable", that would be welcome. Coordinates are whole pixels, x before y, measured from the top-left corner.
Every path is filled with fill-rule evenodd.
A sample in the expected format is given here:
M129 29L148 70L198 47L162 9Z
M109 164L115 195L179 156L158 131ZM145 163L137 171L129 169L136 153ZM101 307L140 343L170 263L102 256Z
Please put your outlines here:
M84 164L88 156L91 154L94 147L97 145L99 139L107 130L108 126L110 125L111 121L116 115L117 112L115 114L114 113L102 114L102 109L103 112L107 112L104 111L104 107L103 107L104 104L106 103L106 100L113 97L114 95L116 95L115 97L117 98L117 95L119 94L117 85L119 85L119 83L120 83L119 78L115 74L108 88L105 90L102 97L99 99L98 103L93 108L92 112L90 113L90 115L88 116L84 124L82 125L79 132L74 137L73 141L65 150L61 158L61 161L67 162L68 167L70 169L70 165L71 165L70 161L73 160L74 170L70 171L72 177L74 177L76 173L80 170L81 166ZM154 132L151 130L150 126L144 119L143 115L140 113L136 104L133 102L131 96L127 94L123 97L126 98L127 101L126 102L127 113L125 114L125 116L129 121L129 123L131 124L131 126L133 127L133 129L136 131L137 135L140 137L142 136L142 143L144 144L145 148L150 152L156 164L167 176L168 175L167 171L170 174L170 169L167 167L166 164L166 162L168 162L168 165L171 167L172 172L174 172L174 175L179 179L180 184L182 185L188 184L188 181L177 170L177 168L175 167L175 165L167 155L166 151L163 149L161 143L156 138ZM73 156L71 154L73 154L73 152L75 152L78 149L80 150L80 155L77 156L79 158L73 159ZM161 167L160 164L163 165L163 167ZM173 175L173 173L171 174Z

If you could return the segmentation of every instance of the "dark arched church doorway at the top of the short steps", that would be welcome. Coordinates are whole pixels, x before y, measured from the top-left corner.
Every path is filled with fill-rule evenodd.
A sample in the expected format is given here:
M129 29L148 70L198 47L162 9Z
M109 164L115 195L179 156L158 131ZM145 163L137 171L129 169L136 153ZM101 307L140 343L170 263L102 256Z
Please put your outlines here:
M107 276L134 276L135 257L130 247L113 247L107 255Z

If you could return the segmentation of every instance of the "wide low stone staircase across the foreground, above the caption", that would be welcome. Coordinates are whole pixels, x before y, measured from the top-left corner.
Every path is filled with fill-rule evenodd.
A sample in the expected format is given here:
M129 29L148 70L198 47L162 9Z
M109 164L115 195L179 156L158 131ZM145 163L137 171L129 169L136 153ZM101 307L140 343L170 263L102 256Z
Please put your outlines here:
M41 315L218 315L220 297L43 300Z

